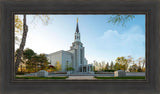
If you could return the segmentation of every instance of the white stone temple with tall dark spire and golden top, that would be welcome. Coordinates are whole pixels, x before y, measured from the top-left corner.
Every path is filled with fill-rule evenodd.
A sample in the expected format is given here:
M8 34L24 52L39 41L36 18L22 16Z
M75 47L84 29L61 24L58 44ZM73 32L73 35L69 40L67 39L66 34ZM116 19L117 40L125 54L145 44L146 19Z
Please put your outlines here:
M85 47L80 39L80 32L78 27L78 18L77 18L77 27L74 36L74 42L70 47L70 50L64 51L60 50L51 54L46 55L49 62L52 65L56 65L57 62L61 65L61 71L66 72L68 67L74 68L74 72L91 72L92 65L88 64L87 59L85 58Z

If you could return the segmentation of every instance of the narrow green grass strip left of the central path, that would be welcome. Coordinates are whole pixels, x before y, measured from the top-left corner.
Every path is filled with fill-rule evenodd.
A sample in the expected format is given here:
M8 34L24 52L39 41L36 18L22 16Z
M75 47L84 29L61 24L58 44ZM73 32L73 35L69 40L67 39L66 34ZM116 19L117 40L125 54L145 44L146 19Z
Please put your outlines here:
M16 79L66 79L68 77L16 77Z

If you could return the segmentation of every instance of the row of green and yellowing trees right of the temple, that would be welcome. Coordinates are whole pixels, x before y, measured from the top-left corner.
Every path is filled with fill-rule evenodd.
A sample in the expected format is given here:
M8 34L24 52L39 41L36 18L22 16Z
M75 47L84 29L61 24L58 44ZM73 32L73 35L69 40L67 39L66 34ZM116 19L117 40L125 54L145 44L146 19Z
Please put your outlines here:
M114 71L114 70L124 70L129 72L144 72L145 71L145 58L138 58L134 60L131 56L117 57L115 62L93 62L95 71Z

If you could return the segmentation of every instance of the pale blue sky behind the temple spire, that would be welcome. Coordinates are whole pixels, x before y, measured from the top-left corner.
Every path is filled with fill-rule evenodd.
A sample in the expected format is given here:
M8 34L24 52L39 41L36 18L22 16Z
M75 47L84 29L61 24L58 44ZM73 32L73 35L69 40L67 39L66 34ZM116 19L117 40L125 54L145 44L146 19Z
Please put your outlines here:
M50 23L43 25L39 19L33 23L33 15L27 15L29 31L25 48L46 54L69 50L74 42L78 17L88 63L94 60L110 62L129 55L134 59L145 57L145 15L135 15L125 27L107 23L110 16L50 15Z

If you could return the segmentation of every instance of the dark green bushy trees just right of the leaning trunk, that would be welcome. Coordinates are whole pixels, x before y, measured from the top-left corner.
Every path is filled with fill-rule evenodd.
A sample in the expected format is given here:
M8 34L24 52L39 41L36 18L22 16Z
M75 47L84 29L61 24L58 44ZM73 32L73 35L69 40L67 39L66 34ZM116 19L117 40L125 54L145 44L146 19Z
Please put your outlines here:
M45 54L36 54L32 49L26 48L23 51L21 62L25 64L24 72L37 72L39 70L48 70L49 62ZM19 66L20 68L21 66Z

